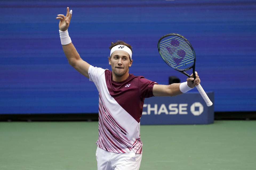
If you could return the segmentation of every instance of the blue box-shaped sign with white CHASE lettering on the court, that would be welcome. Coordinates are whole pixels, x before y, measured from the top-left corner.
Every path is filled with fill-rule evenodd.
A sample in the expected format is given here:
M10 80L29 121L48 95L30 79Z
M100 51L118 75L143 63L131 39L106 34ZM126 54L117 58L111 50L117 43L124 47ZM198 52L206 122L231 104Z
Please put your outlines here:
M214 122L214 92L206 94L213 102L210 107L198 92L146 98L141 125L211 124Z

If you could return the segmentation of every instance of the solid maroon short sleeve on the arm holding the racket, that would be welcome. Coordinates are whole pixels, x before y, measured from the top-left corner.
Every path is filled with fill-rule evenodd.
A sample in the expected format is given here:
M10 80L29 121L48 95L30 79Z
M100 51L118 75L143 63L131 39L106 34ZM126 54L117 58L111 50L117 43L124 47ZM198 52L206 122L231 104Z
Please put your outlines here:
M153 86L158 84L151 80L145 79L144 77L139 78L139 92L143 98L153 97Z

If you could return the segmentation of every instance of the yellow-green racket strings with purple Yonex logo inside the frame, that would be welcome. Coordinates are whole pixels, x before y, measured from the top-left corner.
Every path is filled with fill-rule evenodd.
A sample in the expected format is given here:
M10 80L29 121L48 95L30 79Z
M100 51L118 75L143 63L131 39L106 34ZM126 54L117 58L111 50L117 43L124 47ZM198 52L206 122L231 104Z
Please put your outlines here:
M167 36L159 42L159 52L172 67L180 70L194 65L194 53L190 45L181 37Z

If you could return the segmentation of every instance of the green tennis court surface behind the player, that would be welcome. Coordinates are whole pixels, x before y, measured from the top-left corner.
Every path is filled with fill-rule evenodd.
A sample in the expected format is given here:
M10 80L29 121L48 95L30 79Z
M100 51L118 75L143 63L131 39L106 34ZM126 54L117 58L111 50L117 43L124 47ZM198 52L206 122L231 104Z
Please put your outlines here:
M97 169L98 122L0 122L1 170ZM141 170L256 169L256 121L143 125Z

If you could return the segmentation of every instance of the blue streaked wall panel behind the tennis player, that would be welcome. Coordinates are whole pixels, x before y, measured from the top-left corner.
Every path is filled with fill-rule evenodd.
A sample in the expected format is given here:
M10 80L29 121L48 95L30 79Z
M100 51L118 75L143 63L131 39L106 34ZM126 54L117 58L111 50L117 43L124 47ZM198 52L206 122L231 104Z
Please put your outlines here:
M91 65L111 69L109 46L123 40L133 46L130 73L186 81L157 49L161 36L179 33L215 111L256 111L256 1L0 1L0 114L98 112L96 87L62 51L55 18L67 6L71 40Z

